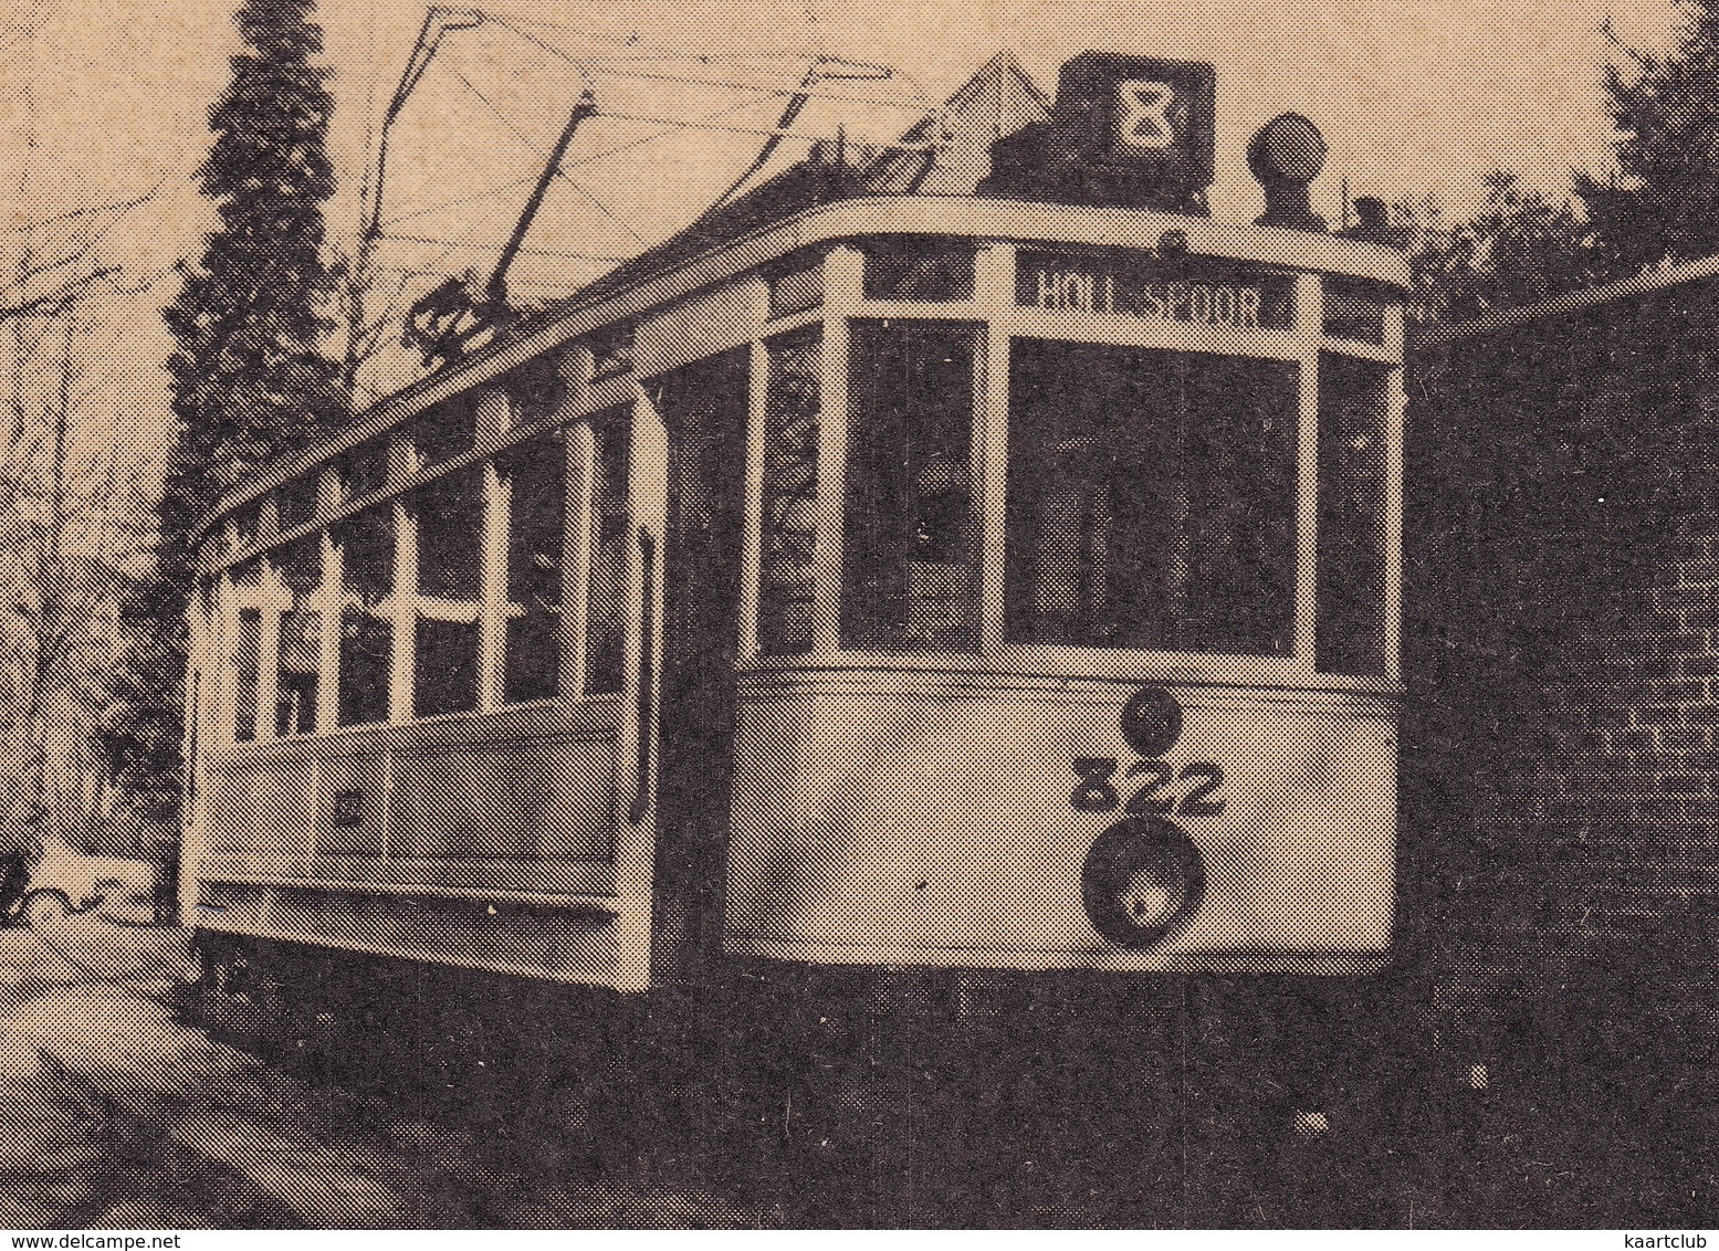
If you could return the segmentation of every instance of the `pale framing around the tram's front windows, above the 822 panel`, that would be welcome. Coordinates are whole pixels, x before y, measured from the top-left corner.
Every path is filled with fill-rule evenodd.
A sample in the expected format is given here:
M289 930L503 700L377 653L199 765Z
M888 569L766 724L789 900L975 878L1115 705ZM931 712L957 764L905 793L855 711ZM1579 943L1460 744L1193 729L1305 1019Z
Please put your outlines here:
M822 325L825 359L820 395L820 509L817 533L815 627L813 646L799 655L762 655L755 646L743 650L743 667L760 670L866 667L866 668L963 668L987 672L1055 672L1097 679L1217 680L1246 684L1286 684L1296 687L1346 687L1392 691L1401 686L1401 491L1389 490L1401 481L1403 421L1403 302L1386 308L1382 344L1341 339L1325 330L1325 301L1320 272L1293 270L1260 263L1293 275L1293 314L1289 325L1212 326L1183 321L1148 321L1126 314L1069 313L1026 308L1016 297L1016 253L1045 251L1037 244L988 242L976 254L973 299L884 301L863 294L863 256L858 249L834 247L825 256L823 304L813 316L796 325ZM847 491L847 411L849 400L849 326L854 321L949 321L983 326L978 352L983 356L983 380L973 395L971 502L978 510L980 534L980 620L978 648L858 648L841 639L844 507ZM782 333L786 320L770 326ZM1009 641L1006 638L1006 514L1009 471L1009 369L1016 339L1067 344L1105 344L1148 351L1274 361L1298 368L1298 418L1294 440L1294 636L1288 655L1246 655L1219 651L1176 651L1148 648L1105 648L1064 643ZM1384 519L1386 567L1384 605L1386 667L1379 675L1329 674L1317 668L1317 550L1318 550L1318 380L1320 357L1341 356L1384 366L1387 375L1386 412L1386 481ZM756 406L762 409L765 400ZM755 424L758 418L755 412ZM751 466L749 500L753 509L751 541L758 540L760 498L758 467ZM756 612L756 607L753 607ZM749 644L755 617L743 622Z

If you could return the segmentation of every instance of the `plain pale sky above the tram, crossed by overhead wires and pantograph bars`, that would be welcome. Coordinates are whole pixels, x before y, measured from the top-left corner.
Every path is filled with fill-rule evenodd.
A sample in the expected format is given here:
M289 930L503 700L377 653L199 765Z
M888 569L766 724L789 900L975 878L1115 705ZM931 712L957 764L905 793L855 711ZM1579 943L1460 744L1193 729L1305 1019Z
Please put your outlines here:
M1554 191L1566 186L1571 165L1604 168L1600 22L1609 15L1626 40L1654 48L1676 17L1671 0L1344 0L1322 9L1215 0L493 0L488 9L509 26L450 36L402 115L385 196L390 234L399 235L385 256L401 266L488 266L524 198L521 180L538 168L583 86L560 55L569 50L829 50L894 67L875 91L897 93L902 103L942 100L999 50L1014 52L1047 91L1057 65L1085 48L1210 60L1219 74L1214 215L1258 211L1243 148L1263 120L1293 108L1313 117L1331 143L1315 208L1337 217L1344 179L1351 194L1434 194L1463 208L1492 168ZM0 175L9 191L0 241L28 237L52 249L101 229L103 261L122 265L132 285L155 284L138 296L115 292L91 311L113 328L115 344L89 387L83 436L96 443L117 409L160 421L158 363L168 344L155 309L172 296L172 263L196 256L208 227L194 168L208 146L208 105L227 82L237 43L230 12L218 0L9 0L0 17ZM352 189L423 15L421 3L402 0L320 7L344 187L330 206L335 239L352 235ZM732 62L713 64L736 72ZM746 72L786 65L758 62ZM624 100L605 89L602 103L688 115L696 101L677 91L633 81ZM762 110L731 120L768 125L779 105L763 100ZM882 108L872 122L887 129L896 115L911 120ZM619 134L593 131L579 143ZM652 150L667 172L639 162L590 165L579 187L557 186L533 239L579 256L533 256L523 280L564 280L603 266L584 258L634 251L689 211L682 201L691 204L722 172L744 165L756 143L700 132ZM74 218L21 232L150 191L150 203L120 220ZM447 199L462 203L435 208Z

